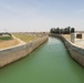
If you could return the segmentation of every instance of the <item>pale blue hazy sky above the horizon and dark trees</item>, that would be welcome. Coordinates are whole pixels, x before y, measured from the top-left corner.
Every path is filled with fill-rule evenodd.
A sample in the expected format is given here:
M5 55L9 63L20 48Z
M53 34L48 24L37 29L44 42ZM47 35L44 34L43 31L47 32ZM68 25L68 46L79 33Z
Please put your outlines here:
M0 0L0 31L84 31L84 0Z

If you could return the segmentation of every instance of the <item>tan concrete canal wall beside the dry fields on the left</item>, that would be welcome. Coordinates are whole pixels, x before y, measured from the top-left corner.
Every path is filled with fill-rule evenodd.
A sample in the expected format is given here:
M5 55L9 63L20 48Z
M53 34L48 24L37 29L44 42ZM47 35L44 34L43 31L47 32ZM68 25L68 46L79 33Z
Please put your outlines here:
M23 45L17 45L0 50L0 68L27 56L48 39L49 37L45 35Z

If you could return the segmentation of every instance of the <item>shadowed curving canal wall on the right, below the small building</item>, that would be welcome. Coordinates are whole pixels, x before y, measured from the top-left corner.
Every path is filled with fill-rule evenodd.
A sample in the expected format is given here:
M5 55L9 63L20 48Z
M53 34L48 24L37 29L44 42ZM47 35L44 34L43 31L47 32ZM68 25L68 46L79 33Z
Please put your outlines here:
M71 58L84 66L84 48L80 48L80 46L73 44L71 41L69 41L61 34L50 34L50 35L60 38L63 41L63 43L65 44Z

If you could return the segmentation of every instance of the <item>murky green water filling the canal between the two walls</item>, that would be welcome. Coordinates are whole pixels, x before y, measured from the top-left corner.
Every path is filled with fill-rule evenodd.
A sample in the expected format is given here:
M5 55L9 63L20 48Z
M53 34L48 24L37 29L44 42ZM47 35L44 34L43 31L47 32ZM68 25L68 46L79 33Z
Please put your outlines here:
M27 58L0 69L0 83L84 83L84 68L55 38Z

